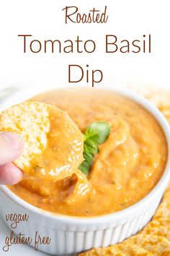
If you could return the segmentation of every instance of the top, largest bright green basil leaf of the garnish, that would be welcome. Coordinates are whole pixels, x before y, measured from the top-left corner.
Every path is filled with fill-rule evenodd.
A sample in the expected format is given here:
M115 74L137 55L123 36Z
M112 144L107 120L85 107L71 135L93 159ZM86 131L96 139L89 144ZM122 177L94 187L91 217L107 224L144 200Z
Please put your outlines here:
M110 126L104 121L94 121L89 127L86 128L85 142L86 140L93 140L97 144L103 143L110 132Z

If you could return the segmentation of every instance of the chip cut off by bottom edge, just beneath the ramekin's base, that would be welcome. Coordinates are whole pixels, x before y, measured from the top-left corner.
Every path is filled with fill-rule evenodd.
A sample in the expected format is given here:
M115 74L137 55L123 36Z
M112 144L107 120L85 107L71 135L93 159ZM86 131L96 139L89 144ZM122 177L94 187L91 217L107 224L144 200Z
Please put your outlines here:
M126 256L117 247L111 246L107 248L94 248L87 252L81 253L79 256Z

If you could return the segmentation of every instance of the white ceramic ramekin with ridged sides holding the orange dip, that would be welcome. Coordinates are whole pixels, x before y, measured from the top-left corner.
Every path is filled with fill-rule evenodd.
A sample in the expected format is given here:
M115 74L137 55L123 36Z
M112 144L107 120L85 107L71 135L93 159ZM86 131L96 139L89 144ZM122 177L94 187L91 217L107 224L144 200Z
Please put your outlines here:
M131 100L139 103L143 108L146 108L158 123L161 125L166 135L168 148L170 147L170 130L169 124L158 109L149 103L145 98L141 97L128 90L120 90L117 88L109 88L116 93L125 95ZM28 98L42 93L48 88L27 88L13 94L1 104L0 111L9 106L25 101ZM52 88L50 88L52 89ZM93 90L91 88L91 90ZM169 150L170 151L170 150ZM47 252L51 255L76 255L78 252L90 249L92 247L107 247L109 244L122 242L128 236L140 231L148 221L151 220L153 214L158 207L164 190L167 187L170 178L170 157L164 174L154 189L135 205L121 210L117 213L107 214L105 216L93 218L77 218L70 216L62 216L53 214L35 208L21 198L14 195L6 186L0 186L0 212L6 224L10 226L10 222L5 220L6 214L17 213L30 216L29 221L22 222L14 229L15 234L25 234L25 236L35 237L37 231L40 236L50 236L51 242L49 245L40 245L38 249ZM32 239L34 246L34 239Z

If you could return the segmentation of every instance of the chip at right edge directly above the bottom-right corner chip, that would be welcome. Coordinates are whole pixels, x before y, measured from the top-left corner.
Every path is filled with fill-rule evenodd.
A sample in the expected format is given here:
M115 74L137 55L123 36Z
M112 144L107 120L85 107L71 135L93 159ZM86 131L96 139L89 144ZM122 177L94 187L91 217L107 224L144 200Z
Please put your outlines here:
M170 226L155 226L153 221L151 221L141 233L162 236L170 240Z

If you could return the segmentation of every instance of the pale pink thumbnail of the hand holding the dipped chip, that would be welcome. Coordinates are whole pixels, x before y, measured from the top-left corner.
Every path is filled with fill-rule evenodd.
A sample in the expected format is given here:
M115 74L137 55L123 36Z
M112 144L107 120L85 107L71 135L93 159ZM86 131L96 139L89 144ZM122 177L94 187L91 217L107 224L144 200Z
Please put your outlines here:
M0 136L4 138L12 150L20 150L23 146L21 135L15 132L3 132Z

